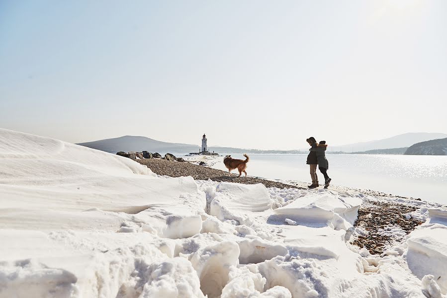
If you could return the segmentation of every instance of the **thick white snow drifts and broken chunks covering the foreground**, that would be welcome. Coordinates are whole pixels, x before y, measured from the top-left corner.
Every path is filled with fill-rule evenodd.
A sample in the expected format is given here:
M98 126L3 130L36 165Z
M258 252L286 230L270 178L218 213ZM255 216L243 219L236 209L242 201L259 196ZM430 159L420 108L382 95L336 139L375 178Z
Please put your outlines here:
M447 211L406 202L427 222L373 256L348 242L364 198L0 130L0 297L447 297Z

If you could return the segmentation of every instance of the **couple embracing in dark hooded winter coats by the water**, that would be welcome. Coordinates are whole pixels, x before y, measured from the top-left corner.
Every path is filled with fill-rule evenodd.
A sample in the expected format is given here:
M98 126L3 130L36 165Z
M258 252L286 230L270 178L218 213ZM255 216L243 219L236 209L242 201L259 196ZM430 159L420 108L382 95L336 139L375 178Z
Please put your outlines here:
M324 153L328 147L326 145L326 141L317 143L314 137L310 137L306 140L306 142L309 143L311 147L309 149L309 155L307 155L307 164L310 166L310 176L312 177L312 185L310 185L309 188L316 188L320 186L318 184L317 165L325 179L324 188L328 188L329 183L331 183L331 178L329 178L327 173L329 162Z

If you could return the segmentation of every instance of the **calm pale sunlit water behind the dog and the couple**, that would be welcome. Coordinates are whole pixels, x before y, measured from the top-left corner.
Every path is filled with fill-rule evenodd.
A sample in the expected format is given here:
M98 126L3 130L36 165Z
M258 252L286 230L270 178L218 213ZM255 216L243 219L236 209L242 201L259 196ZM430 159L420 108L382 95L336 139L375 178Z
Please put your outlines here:
M241 154L231 157L245 159ZM447 204L447 156L328 154L326 157L331 184ZM250 154L247 173L268 179L311 182L306 158L307 154ZM226 170L223 162L213 167ZM323 182L323 175L318 170L317 173Z

